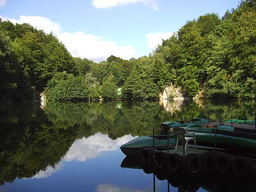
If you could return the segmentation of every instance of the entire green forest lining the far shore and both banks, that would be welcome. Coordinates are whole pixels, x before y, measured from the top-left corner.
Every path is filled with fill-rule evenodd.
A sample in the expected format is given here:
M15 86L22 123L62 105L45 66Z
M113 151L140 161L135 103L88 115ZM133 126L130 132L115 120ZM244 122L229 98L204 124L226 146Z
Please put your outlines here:
M256 93L256 1L188 20L139 59L72 57L53 34L0 20L0 102L158 99L167 86L184 97L252 99ZM170 23L171 24L171 21ZM117 94L121 88L121 94Z

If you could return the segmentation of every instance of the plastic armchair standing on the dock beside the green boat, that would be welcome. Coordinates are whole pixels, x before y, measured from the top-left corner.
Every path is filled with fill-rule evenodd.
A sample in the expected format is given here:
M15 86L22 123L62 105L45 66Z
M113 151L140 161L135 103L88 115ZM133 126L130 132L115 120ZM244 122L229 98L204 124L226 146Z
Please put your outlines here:
M176 151L177 151L177 147L179 144L179 140L181 140L183 142L185 141L185 152L187 151L188 141L190 141L190 140L194 140L194 144L195 144L195 148L196 148L195 132L188 132L183 127L174 127L174 133L177 136L176 147L175 147ZM185 133L193 133L193 137L185 137ZM197 148L196 148L196 151L197 151Z

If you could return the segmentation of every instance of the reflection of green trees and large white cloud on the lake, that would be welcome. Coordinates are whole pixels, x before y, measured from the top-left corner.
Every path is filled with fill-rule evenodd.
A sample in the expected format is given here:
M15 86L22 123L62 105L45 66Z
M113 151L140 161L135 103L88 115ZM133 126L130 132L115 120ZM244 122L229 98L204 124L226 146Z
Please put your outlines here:
M51 178L49 176L65 171L66 162L96 161L103 154L118 151L119 145L135 136L150 135L152 128L158 129L158 125L167 120L207 118L208 114L215 120L219 114L222 119L230 119L231 115L236 119L254 119L254 113L255 101L183 100L167 101L164 105L121 101L47 103L43 108L1 106L0 185L16 178ZM137 187L128 188L137 190Z

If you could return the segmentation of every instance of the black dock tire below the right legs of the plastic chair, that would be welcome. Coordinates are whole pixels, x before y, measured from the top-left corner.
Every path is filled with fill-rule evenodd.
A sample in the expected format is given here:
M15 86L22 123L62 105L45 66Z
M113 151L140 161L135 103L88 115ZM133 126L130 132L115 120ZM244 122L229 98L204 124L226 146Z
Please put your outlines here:
M185 156L184 168L187 173L194 174L201 171L202 162L199 155L195 153L190 153Z

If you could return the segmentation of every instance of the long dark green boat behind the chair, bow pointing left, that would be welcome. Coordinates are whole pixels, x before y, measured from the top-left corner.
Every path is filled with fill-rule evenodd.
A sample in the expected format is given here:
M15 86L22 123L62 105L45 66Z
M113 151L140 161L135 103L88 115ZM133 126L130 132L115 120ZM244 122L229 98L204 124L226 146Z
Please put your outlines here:
M164 122L166 124L166 122ZM250 153L256 155L256 130L234 128L229 126L201 126L200 124L183 124L187 131L196 135L197 145L226 149L232 153ZM186 137L192 137L187 134ZM169 135L169 144L173 147L176 143L174 133ZM153 137L137 137L121 146L121 151L127 156L138 155L141 148L152 148ZM167 149L167 135L155 136L155 147L159 151Z

